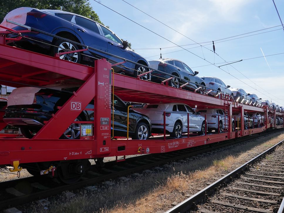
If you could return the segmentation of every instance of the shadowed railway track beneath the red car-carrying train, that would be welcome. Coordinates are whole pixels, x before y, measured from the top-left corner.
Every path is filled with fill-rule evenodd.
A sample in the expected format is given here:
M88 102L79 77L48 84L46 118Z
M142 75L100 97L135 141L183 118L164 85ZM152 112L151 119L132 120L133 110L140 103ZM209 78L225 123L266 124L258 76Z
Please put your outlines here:
M261 135L265 136L279 131L283 130L275 129L266 131ZM45 178L44 176L33 176L0 182L0 209L14 206L15 203L20 205L57 195L63 191L75 190L105 180L127 176L131 173L155 168L171 161L201 156L200 154L212 151L216 152L224 148L231 148L232 146L236 146L236 144L245 143L245 141L257 138L258 136L259 135L246 136L237 141L222 141L220 143L208 144L169 153L141 155L133 158L126 158L125 161L121 162L110 161L105 163L103 168L92 165L90 170L82 177L82 180L70 185L63 184L57 179Z

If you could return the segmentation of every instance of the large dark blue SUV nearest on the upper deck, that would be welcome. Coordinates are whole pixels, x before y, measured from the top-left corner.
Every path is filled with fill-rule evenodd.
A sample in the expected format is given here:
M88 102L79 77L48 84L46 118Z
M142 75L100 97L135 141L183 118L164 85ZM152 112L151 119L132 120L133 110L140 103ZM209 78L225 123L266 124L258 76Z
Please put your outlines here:
M126 41L122 41L105 26L84 16L60 10L38 10L29 7L21 7L9 12L1 23L3 26L21 30L25 28L8 23L6 19L73 40L106 53L111 53L121 58L137 62L141 65L149 66L145 58L128 48ZM54 56L56 53L82 49L82 47L75 43L70 43L35 31L23 33L22 35L23 38L21 40L11 42L10 45L51 56ZM13 38L16 37L16 35L10 34L9 37ZM61 55L60 58L90 66L94 66L94 59L100 58L107 58L112 64L124 61L91 49L84 52L64 54ZM131 62L118 65L114 67L114 70L115 72L134 77L142 72L149 71L147 68ZM149 78L149 74L142 77L144 80L148 80Z

